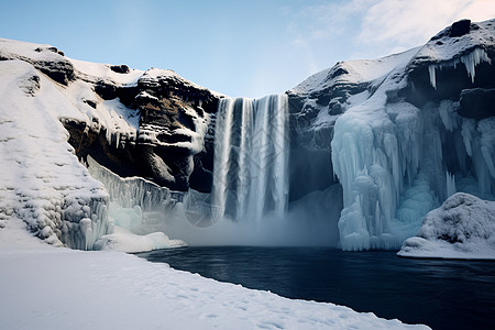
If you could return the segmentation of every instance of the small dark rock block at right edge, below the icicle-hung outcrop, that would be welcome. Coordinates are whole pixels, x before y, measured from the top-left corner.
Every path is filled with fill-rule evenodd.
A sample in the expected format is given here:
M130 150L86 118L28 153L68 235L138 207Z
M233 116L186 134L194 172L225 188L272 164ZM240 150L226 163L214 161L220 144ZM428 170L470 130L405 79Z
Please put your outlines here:
M473 88L461 92L458 113L476 120L495 116L495 89Z

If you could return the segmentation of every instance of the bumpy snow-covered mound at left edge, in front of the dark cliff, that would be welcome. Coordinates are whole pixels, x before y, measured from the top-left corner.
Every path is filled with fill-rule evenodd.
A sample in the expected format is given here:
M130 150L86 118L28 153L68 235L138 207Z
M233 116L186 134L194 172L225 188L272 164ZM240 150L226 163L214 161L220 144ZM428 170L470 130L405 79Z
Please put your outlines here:
M58 120L81 112L20 61L0 62L0 98L1 217L20 217L51 244L90 249L112 228L108 194L78 162Z

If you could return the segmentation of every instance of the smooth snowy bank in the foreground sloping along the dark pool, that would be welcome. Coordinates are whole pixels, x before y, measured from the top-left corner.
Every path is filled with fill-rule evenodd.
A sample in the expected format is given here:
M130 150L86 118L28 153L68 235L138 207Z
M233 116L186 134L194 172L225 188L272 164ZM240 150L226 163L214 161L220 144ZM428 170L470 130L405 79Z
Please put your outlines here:
M429 329L290 300L119 252L52 248L0 229L4 329Z

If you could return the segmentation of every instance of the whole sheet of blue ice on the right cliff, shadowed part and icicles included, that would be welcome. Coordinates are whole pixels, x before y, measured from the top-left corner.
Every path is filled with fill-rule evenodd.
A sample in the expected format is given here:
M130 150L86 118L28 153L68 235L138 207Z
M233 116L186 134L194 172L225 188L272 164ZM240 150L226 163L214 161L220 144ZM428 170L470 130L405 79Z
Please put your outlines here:
M430 65L432 87L436 69L458 62L474 79L476 65L491 59L476 48ZM351 106L336 122L332 162L344 193L343 250L398 248L429 210L458 190L486 198L495 193L493 118L461 118L459 103L451 100L421 109L391 100L406 84L400 73L407 65L397 65L370 99Z

